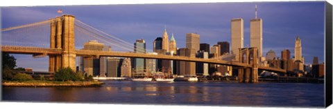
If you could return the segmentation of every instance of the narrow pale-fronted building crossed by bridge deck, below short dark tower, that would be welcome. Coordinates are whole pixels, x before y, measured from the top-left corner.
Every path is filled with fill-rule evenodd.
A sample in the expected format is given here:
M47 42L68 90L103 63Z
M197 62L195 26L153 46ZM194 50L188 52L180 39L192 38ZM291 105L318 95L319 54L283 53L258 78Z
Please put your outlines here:
M203 59L208 59L208 52L205 51L199 51L196 54L196 57L198 58L203 58ZM208 76L208 63L196 63L196 74L197 75L203 75L203 76Z

